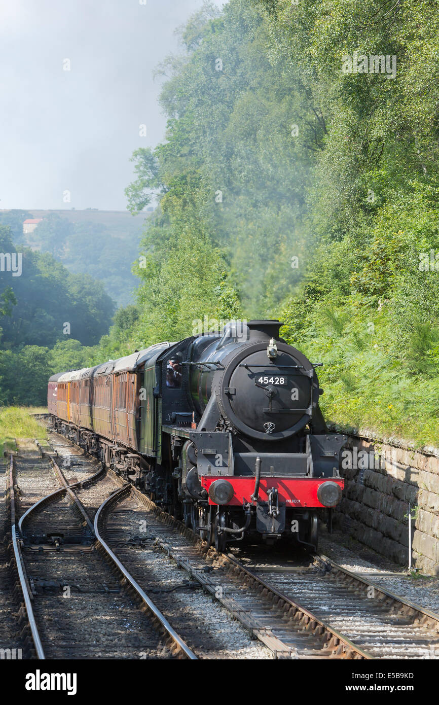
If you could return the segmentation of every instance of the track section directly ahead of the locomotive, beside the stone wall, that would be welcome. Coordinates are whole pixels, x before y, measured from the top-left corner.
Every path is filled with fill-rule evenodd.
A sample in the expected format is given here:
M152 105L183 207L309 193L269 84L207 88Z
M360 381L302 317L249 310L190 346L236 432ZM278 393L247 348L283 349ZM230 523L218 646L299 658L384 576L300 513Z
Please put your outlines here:
M260 558L249 558L248 553L242 560L259 580L279 594L294 596L370 658L439 655L438 614L342 568L326 556L314 556L308 567L276 559L267 565Z

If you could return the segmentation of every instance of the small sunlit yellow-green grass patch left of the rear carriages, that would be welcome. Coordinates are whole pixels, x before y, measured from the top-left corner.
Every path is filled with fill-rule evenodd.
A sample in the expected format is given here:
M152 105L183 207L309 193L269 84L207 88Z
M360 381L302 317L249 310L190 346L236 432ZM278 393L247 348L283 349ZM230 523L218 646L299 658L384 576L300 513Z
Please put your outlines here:
M16 450L16 439L47 439L47 432L32 414L44 414L44 407L4 406L0 407L0 452Z

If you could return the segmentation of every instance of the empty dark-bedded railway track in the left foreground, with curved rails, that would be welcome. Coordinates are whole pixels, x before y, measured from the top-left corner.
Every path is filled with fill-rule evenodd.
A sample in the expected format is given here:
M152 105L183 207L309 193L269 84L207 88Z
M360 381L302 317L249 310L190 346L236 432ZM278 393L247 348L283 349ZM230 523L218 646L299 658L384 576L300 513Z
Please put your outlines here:
M9 493L13 555L37 658L196 658L137 587L94 526L75 492L99 482L62 484L16 521L14 461ZM20 467L18 468L20 471ZM25 477L20 474L20 484ZM95 541L100 550L95 550Z

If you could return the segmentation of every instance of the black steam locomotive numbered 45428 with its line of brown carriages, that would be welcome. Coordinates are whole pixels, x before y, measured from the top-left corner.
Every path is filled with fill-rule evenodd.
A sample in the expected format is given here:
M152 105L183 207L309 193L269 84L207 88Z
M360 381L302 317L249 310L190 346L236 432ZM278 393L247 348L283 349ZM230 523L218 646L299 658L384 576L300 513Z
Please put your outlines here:
M223 551L282 539L316 550L342 496L316 364L280 321L159 343L49 379L54 429Z

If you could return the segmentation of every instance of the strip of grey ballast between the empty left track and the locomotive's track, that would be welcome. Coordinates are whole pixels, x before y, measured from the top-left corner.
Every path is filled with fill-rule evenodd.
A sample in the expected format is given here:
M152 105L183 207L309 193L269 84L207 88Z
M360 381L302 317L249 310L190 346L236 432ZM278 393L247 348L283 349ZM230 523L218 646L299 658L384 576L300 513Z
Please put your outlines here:
M129 490L129 488L128 488ZM155 543L149 518L136 492L122 489L95 518L115 556L154 599L199 658L272 658L196 580L185 575Z

